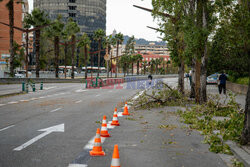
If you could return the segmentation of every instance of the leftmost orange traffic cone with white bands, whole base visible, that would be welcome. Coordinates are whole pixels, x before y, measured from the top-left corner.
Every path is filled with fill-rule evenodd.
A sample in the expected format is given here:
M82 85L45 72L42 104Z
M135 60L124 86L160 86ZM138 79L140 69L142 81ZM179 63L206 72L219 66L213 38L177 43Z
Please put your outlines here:
M101 146L101 137L100 137L100 129L97 128L96 130L96 136L95 136L95 143L93 146L93 149L89 152L91 156L104 156L105 152L102 151L102 146Z

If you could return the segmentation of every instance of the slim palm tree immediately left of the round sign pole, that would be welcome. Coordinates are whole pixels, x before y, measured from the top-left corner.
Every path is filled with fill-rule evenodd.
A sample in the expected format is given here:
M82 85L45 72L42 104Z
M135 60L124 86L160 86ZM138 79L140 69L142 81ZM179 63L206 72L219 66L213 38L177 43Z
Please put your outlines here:
M104 37L105 37L105 32L103 29L97 29L94 32L94 40L98 41L98 72L97 72L97 77L99 77L99 73L100 73L101 45L102 45L102 40Z

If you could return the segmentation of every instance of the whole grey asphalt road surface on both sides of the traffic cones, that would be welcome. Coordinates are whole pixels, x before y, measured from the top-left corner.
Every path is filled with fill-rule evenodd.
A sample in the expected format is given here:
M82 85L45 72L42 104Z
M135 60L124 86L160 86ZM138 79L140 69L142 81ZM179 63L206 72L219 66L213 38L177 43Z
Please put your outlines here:
M166 80L172 85L176 81L177 78ZM83 84L44 87L48 89L0 98L1 167L110 166L114 144L119 144L123 167L225 166L218 155L201 144L202 137L197 133L176 148L163 149L160 139L168 141L171 133L162 133L158 125L146 132L144 124L132 121L145 117L150 125L160 123L154 112L119 117L121 126L110 129L112 137L103 143L106 156L90 157L88 143L101 127L103 115L111 120L114 108L121 112L124 102L142 89L138 90L132 82L104 89L85 89ZM52 128L46 129L49 127ZM183 133L177 133L180 140ZM192 153L196 147L199 151ZM181 159L173 158L184 154Z

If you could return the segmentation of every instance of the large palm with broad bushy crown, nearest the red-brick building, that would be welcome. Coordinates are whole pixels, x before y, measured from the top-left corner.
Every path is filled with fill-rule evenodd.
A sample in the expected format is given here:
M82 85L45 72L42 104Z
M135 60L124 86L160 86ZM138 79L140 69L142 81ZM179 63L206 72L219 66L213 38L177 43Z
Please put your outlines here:
M24 27L30 28L31 26L34 26L35 28L48 24L49 19L47 18L47 15L44 13L44 11L41 11L40 9L35 8L31 14L28 13L24 17ZM36 77L39 78L39 71L40 71L40 34L41 30L37 29L35 31L35 48L36 48Z

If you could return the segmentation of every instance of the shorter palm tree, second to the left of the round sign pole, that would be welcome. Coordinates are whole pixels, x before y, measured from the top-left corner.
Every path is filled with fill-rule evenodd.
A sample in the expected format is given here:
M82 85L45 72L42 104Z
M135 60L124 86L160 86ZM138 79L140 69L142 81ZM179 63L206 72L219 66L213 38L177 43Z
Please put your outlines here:
M90 48L90 39L86 33L84 33L80 39L80 42L78 43L78 47L84 47L84 61L85 61L85 79L88 77L88 50Z

